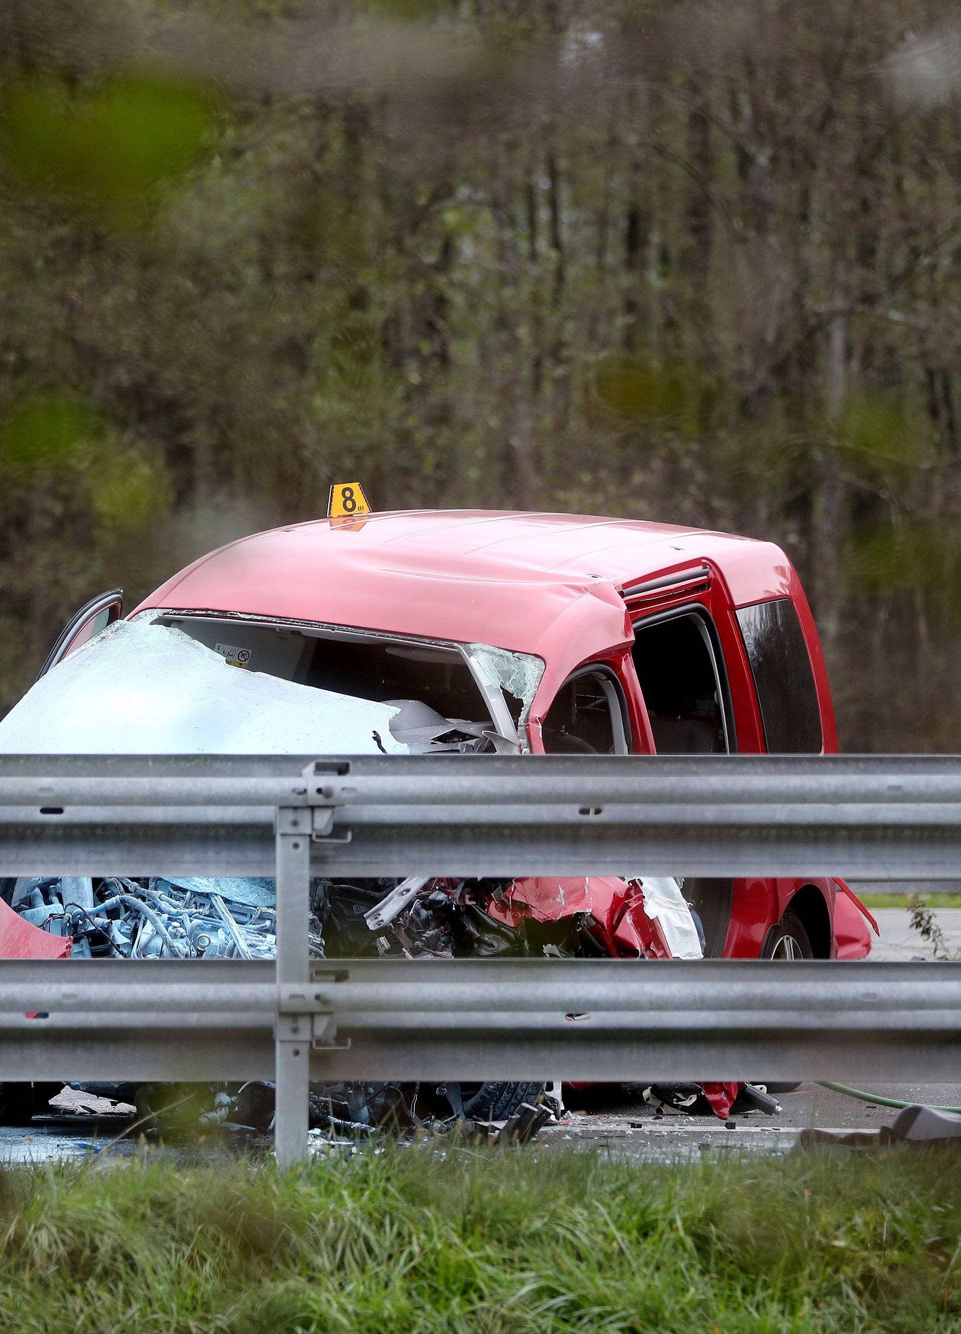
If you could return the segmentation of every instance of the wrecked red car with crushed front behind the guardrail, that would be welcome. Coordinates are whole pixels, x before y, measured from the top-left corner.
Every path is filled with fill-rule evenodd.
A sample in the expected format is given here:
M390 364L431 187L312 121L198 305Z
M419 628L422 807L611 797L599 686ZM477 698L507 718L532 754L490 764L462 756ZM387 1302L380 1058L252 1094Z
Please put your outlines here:
M77 614L0 750L837 750L797 574L771 543L726 534L486 511L324 519L222 547L121 618L120 591ZM270 886L238 884L16 882L0 952L263 956ZM794 959L864 956L865 919L840 880L638 868L322 882L311 930L324 956Z

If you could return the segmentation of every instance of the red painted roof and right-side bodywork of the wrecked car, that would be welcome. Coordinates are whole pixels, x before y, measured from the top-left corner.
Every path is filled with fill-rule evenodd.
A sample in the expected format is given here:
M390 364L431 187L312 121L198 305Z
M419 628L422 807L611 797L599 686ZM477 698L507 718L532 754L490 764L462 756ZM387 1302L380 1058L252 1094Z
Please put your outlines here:
M817 688L824 750L836 751L828 672L798 576L773 543L729 534L631 519L509 511L398 511L350 522L323 519L254 534L202 556L136 611L314 622L534 654L546 664L527 723L535 754L545 748L543 718L562 683L586 663L605 663L625 691L634 751L651 754L655 746L631 659L634 623L689 603L691 595L666 587L645 596L639 606L622 592L638 582L699 568L709 571L709 580L697 602L717 630L738 751L763 754L766 746L735 612L775 598L790 599L797 611ZM561 895L558 884L565 887ZM802 902L795 899L799 894L806 895L813 914L816 952L834 956L834 883L759 878L735 882L723 955L757 958L769 927L791 900ZM519 880L501 907L506 914L530 912L542 919L587 910L610 954L663 956L657 923L647 920L637 890L623 880ZM868 952L869 940L846 908L844 922L845 955ZM818 924L824 930L816 931Z

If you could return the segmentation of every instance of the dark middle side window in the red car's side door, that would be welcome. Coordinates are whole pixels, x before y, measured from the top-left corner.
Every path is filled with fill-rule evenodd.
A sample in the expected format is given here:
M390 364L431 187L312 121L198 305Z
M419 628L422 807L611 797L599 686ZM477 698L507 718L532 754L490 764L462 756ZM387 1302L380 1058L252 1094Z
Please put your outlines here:
M658 755L734 750L714 643L697 611L634 627L634 670Z

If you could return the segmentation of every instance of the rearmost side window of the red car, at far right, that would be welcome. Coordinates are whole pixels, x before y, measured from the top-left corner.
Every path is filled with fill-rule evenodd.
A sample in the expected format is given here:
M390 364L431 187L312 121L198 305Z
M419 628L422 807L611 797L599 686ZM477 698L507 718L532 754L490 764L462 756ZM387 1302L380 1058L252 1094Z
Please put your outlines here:
M790 598L738 607L767 750L817 755L824 746L821 707L801 622Z

